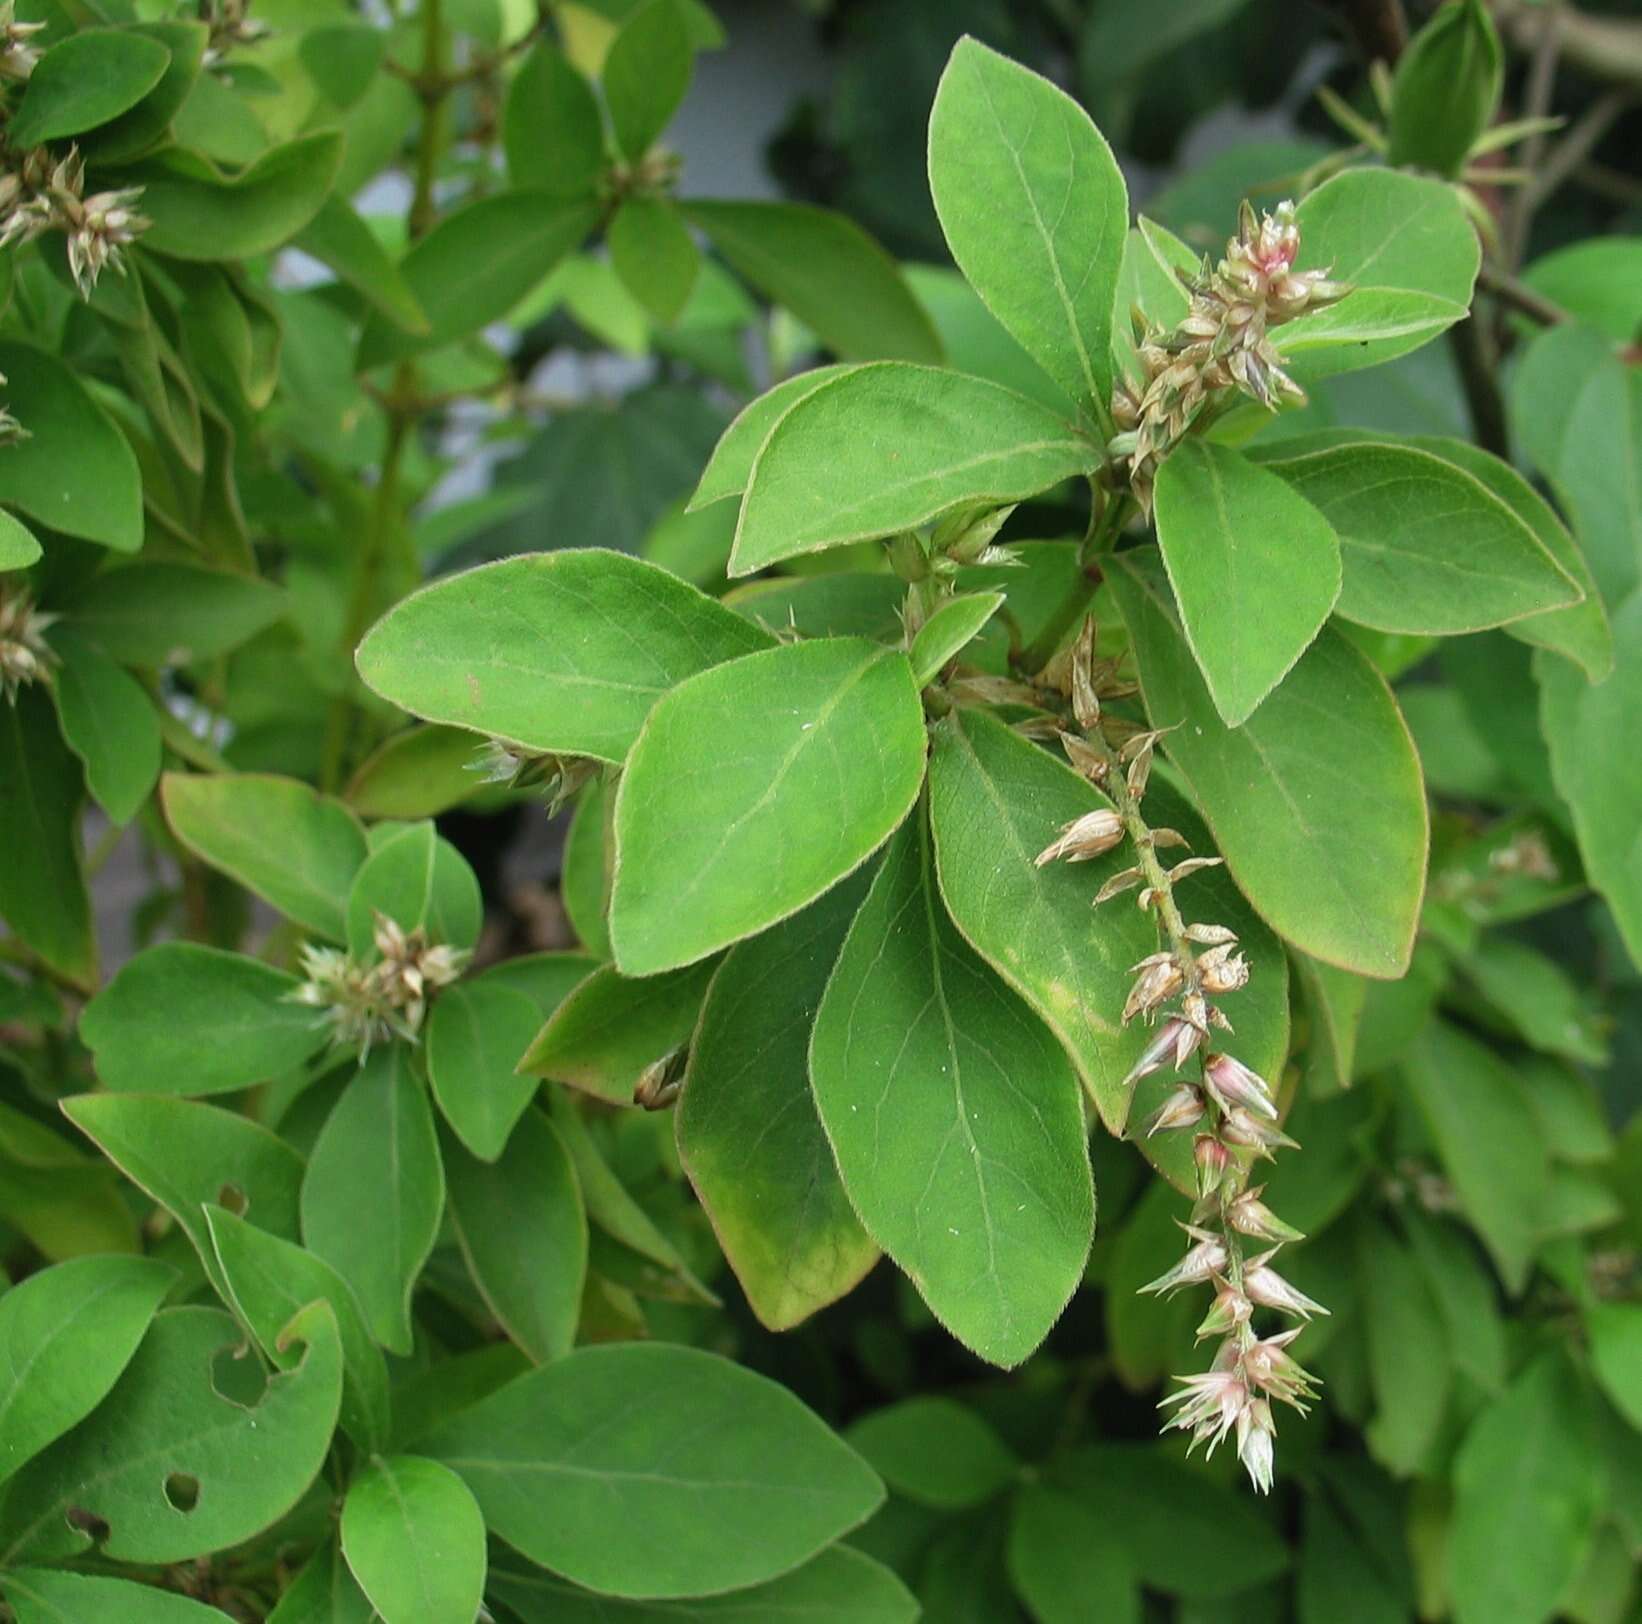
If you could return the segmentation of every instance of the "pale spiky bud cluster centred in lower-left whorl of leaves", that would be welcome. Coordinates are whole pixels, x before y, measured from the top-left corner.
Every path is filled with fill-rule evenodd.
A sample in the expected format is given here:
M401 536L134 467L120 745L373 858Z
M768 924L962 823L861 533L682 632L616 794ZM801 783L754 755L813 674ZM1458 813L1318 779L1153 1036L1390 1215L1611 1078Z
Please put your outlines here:
M369 964L337 947L304 946L307 979L291 993L292 1003L323 1012L320 1023L330 1026L332 1043L358 1049L361 1061L373 1043L391 1038L415 1043L429 998L448 987L468 962L461 949L433 946L424 929L406 931L381 913L374 946L378 957Z

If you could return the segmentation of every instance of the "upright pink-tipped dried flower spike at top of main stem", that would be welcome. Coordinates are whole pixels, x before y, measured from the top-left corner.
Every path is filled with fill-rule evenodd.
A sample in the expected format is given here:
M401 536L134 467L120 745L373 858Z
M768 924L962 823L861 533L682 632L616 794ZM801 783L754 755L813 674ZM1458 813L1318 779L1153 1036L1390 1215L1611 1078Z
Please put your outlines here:
M1296 271L1300 232L1294 204L1259 215L1245 202L1225 258L1187 282L1190 305L1172 332L1135 314L1140 381L1112 392L1118 429L1108 450L1126 468L1130 489L1151 507L1158 465L1227 399L1245 394L1268 411L1300 402L1305 391L1282 369L1269 332L1350 289L1323 271Z

